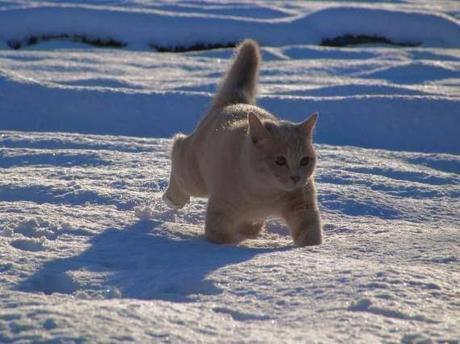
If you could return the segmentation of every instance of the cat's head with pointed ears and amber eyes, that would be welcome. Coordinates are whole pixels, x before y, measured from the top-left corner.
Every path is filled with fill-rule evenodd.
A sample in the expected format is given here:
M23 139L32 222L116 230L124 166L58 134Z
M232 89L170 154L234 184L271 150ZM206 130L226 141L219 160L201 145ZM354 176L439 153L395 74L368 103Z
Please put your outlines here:
M256 175L277 190L293 191L313 174L316 153L312 134L318 114L302 123L261 121L248 114L251 164Z

